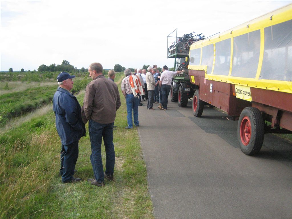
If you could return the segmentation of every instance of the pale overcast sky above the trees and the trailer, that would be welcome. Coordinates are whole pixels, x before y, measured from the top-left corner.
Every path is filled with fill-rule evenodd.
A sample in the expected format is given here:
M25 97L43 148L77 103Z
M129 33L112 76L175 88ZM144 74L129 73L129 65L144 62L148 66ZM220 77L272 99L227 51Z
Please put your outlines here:
M167 36L210 36L288 1L22 1L0 0L0 71L34 70L62 60L80 69L100 62L137 68L167 59Z

